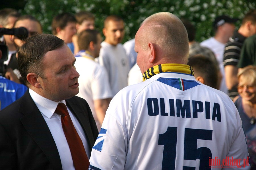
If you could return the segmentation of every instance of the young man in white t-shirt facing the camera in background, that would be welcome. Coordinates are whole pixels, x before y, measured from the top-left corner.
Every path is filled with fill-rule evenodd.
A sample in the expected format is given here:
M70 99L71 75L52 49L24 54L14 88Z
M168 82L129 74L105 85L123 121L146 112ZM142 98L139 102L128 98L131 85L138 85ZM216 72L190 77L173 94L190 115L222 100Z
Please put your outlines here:
M127 86L130 70L129 59L121 44L124 37L124 23L122 18L115 15L108 16L104 21L103 34L105 40L101 43L98 62L108 73L110 88L115 95Z

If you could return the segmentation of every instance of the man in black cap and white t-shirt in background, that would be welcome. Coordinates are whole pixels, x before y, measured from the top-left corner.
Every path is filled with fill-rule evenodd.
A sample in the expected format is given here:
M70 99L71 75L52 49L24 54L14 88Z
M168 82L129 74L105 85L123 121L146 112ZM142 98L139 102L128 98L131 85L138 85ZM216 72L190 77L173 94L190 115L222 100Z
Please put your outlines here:
M214 37L211 37L200 43L201 46L210 48L216 56L219 64L220 71L222 73L222 81L220 83L220 89L222 92L228 94L228 88L226 87L224 65L223 65L223 55L226 43L229 37L232 37L235 30L235 22L237 18L230 18L228 16L222 15L218 16L214 22L213 27L215 31Z

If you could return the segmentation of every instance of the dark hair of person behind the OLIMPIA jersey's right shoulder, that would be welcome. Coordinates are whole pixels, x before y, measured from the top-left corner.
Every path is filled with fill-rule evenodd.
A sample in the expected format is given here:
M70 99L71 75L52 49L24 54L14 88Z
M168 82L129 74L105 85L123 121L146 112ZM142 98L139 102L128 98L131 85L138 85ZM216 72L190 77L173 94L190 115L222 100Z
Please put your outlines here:
M195 55L188 59L187 65L192 66L195 74L204 78L205 85L217 88L218 69L211 59L203 55Z

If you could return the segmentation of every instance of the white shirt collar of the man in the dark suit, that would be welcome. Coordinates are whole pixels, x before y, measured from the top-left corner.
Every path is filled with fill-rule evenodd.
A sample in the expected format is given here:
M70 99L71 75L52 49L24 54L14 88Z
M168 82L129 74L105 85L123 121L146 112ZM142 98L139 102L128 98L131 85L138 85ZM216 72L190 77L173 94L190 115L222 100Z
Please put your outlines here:
M28 91L29 91L29 94L32 97L33 101L35 102L36 106L38 107L39 111L49 119L55 112L58 103L64 103L66 105L65 100L56 102L56 101L52 101L50 99L47 99L47 98L37 94L30 88L28 89Z

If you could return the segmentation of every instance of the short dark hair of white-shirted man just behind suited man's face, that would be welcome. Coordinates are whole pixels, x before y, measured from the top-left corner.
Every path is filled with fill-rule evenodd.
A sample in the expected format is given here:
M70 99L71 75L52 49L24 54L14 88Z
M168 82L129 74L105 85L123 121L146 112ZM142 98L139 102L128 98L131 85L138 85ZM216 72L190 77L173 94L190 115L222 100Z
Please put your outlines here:
M97 35L100 32L95 29L87 29L78 34L77 43L79 46L79 50L87 50L89 47L90 42L97 43Z

